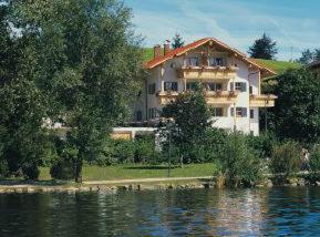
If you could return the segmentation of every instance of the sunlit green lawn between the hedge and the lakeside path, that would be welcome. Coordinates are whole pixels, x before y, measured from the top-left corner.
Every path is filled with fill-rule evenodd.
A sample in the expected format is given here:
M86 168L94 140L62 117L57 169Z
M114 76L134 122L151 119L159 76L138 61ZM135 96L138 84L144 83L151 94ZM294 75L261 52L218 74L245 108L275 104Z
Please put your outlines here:
M172 177L200 177L210 176L215 171L214 163L185 165L183 168L174 167ZM112 181L132 178L167 177L166 166L148 165L118 165L118 166L91 166L83 167L83 181ZM41 168L40 181L50 181L49 168Z

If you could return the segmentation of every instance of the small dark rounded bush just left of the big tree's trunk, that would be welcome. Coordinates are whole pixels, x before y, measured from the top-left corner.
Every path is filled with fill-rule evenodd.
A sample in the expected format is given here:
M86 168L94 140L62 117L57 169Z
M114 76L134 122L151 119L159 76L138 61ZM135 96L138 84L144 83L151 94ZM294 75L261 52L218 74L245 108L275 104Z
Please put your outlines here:
M71 159L56 159L50 168L50 175L55 179L74 179L73 162Z

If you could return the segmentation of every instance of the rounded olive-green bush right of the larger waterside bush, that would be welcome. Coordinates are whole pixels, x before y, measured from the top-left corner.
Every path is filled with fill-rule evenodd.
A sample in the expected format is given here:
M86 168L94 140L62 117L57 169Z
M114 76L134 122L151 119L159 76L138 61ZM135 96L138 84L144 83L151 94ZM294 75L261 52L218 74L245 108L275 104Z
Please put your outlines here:
M299 172L301 168L300 152L300 145L291 141L273 146L270 159L270 171L272 174L288 177Z

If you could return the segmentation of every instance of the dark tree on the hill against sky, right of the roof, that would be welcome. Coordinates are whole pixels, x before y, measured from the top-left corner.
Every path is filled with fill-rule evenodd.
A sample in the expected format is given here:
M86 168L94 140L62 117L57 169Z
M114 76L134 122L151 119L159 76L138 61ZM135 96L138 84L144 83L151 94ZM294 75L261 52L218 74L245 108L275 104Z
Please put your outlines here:
M249 48L248 53L255 59L272 60L278 53L277 42L264 33L262 37L256 40L254 45Z

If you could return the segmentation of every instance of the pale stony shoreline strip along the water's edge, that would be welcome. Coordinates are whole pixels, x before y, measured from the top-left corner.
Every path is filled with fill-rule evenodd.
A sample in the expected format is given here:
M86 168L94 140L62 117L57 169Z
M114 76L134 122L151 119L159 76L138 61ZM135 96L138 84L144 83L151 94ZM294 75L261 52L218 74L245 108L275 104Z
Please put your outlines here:
M320 186L319 182L310 183L306 177L287 178L285 183L277 184L273 177L261 181L254 188L264 187L296 187L296 186ZM105 192L117 190L162 190L162 189L195 189L195 188L220 188L214 176L203 177L162 177L162 178L135 178L114 181L87 181L81 184L74 182L48 181L24 182L3 181L0 182L0 194L31 194L31 193L81 193L81 192Z

